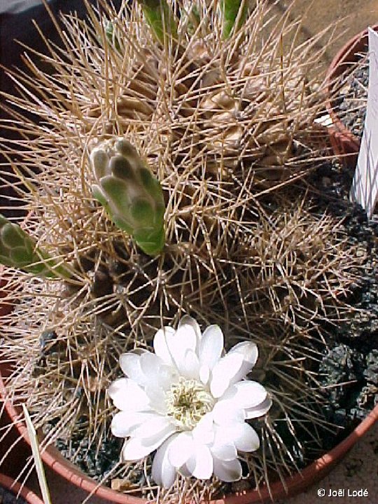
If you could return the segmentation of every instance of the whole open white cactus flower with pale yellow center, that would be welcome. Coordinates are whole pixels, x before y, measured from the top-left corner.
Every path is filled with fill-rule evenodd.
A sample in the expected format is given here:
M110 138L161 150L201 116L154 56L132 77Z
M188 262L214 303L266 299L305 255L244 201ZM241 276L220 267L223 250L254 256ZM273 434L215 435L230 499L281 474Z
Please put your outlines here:
M124 461L157 450L152 476L169 487L176 472L224 482L241 477L237 451L255 451L258 434L246 420L267 413L272 401L256 381L244 380L258 358L253 342L223 354L223 332L210 325L202 334L190 316L177 330L165 327L153 340L155 353L123 353L127 378L108 393L118 412L113 435L125 437Z

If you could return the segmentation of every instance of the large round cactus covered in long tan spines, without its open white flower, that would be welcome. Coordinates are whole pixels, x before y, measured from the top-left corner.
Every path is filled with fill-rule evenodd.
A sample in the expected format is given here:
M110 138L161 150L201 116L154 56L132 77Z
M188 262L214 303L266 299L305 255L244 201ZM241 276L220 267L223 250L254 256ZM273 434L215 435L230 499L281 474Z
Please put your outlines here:
M218 325L226 350L259 347L251 378L273 405L253 424L260 450L242 461L253 484L269 483L271 467L282 478L298 467L297 430L316 441L309 425L324 422L314 328L319 314L340 309L362 260L331 232L334 219L311 214L300 185L323 155L321 134L311 135L323 97L309 78L321 54L311 53L316 39L283 54L296 25L284 15L266 33L265 1L245 20L244 10L226 15L226 1L196 1L196 11L185 1L140 3L130 18L105 6L112 43L93 8L87 23L64 18L64 48L46 41L54 75L27 59L33 76L15 79L29 91L12 102L41 123L15 112L28 148L8 144L6 154L30 182L20 192L32 236L74 274L13 274L18 304L3 318L2 348L18 362L10 389L46 443L69 439L99 456L119 356L151 351L155 332L185 314ZM76 449L71 458L83 462ZM156 498L148 457L117 462L116 476ZM159 495L200 500L220 489L217 479L179 475Z

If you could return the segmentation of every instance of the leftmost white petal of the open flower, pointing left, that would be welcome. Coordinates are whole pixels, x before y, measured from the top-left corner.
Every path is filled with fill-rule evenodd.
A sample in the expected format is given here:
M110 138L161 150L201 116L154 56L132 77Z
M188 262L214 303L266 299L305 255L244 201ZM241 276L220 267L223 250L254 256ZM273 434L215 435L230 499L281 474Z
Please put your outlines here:
M130 378L120 378L108 388L108 395L121 411L144 411L151 409L144 390Z

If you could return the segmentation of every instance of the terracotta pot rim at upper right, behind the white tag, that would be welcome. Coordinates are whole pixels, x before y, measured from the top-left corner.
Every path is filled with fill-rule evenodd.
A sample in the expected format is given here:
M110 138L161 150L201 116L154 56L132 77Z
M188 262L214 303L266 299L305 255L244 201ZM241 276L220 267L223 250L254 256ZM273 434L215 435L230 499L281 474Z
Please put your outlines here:
M374 25L372 29L378 31L378 25ZM360 139L342 123L342 120L340 120L337 115L337 109L331 97L335 96L334 87L337 78L339 78L351 64L356 63L358 52L363 52L366 48L367 29L351 38L351 40L337 52L337 55L332 59L325 77L325 106L332 119L332 127L328 129L330 143L335 154L342 159L345 166L350 168L356 167L358 151L360 150Z

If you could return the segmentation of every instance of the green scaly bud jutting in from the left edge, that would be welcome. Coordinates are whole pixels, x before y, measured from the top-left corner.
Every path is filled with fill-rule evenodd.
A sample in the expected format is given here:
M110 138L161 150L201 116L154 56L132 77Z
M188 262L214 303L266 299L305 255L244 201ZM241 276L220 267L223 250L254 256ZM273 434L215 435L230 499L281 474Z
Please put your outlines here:
M57 266L48 253L36 246L27 232L1 214L0 263L45 278L70 276L64 267Z

